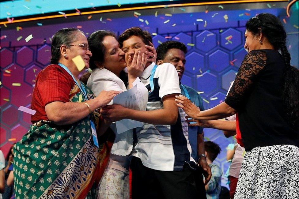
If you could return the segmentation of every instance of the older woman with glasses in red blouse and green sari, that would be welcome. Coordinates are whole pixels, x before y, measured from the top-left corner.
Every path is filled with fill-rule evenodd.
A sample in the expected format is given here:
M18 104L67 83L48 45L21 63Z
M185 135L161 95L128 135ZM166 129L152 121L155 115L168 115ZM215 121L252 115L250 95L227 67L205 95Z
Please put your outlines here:
M29 131L15 145L16 198L84 198L92 196L94 171L105 148L97 141L99 107L117 91L97 97L78 80L78 55L89 68L92 53L84 33L63 28L55 33L51 65L36 78Z

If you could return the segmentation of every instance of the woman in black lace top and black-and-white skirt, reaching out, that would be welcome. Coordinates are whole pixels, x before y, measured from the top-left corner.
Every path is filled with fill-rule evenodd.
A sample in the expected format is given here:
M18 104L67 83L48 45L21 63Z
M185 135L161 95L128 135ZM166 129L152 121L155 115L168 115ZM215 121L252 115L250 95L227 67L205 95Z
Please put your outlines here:
M298 69L290 65L286 32L263 13L247 22L245 39L248 54L225 102L200 111L177 96L177 105L199 120L236 113L247 152L235 198L298 198Z

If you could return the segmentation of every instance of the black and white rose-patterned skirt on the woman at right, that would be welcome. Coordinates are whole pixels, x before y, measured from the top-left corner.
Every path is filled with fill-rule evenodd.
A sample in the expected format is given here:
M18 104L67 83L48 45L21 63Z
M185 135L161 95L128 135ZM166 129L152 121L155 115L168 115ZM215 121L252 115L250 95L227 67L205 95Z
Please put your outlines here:
M246 152L234 198L299 198L299 148L274 145Z

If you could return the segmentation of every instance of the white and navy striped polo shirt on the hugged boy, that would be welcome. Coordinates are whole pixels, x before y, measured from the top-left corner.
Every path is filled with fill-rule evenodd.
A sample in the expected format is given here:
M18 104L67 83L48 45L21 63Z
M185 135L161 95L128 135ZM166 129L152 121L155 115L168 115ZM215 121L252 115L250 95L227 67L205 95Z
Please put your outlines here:
M142 73L140 80L151 91L150 74L155 66L153 62ZM181 93L176 68L170 63L159 65L153 77L154 89L149 92L146 111L163 108L161 99L169 94ZM191 157L191 146L188 140L188 126L185 112L179 108L175 125L152 125L145 123L136 129L137 144L132 156L141 159L148 168L160 171L181 171L184 163L195 166Z

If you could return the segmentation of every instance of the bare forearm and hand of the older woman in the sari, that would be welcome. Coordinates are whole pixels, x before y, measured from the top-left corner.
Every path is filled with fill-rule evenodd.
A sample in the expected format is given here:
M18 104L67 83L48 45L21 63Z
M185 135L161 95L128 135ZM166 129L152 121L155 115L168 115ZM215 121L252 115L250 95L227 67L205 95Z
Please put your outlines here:
M88 103L91 111L94 111L108 104L118 93L118 91L102 91L95 99L87 100L85 103ZM85 103L55 101L48 103L45 111L48 119L57 125L73 124L89 114L89 108Z

